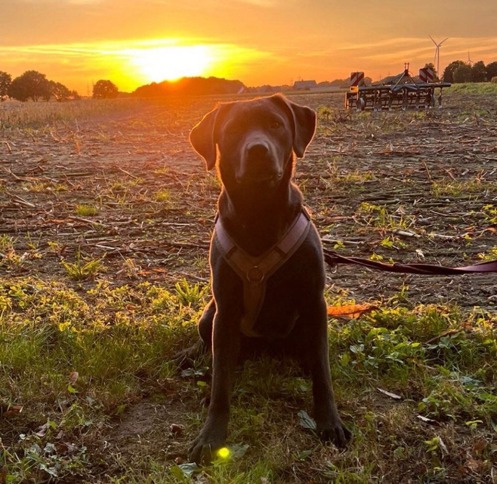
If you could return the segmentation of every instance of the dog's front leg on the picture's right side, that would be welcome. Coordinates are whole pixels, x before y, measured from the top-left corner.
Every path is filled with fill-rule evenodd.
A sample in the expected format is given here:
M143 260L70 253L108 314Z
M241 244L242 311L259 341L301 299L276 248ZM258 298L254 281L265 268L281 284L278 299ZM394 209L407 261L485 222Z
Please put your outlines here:
M319 436L343 447L350 439L349 430L343 425L336 409L331 385L330 357L328 350L328 318L323 299L311 309L306 331L307 361L313 381L314 413Z

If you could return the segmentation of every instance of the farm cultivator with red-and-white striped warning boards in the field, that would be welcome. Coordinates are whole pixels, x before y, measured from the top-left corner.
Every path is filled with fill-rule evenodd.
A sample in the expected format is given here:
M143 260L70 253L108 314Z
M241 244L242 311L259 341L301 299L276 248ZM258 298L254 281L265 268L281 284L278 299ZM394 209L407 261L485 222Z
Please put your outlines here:
M442 107L442 89L449 88L450 83L435 82L432 69L419 69L419 81L409 74L406 64L402 74L395 76L385 84L364 84L363 72L350 74L350 91L345 94L345 109L356 108L357 111L373 109L381 111L398 107L402 110L420 107ZM435 89L440 93L435 99Z

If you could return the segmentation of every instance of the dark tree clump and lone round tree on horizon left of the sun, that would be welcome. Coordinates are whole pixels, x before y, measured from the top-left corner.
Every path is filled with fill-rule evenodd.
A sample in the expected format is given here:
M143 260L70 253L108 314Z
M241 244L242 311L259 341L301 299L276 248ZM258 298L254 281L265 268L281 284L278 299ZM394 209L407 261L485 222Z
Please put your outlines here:
M97 81L93 86L93 97L97 99L117 97L117 86L108 80ZM52 97L57 101L80 99L76 91L71 91L64 84L49 81L45 74L38 71L26 71L12 79L12 76L0 71L0 100L11 97L19 101L29 99L34 102L43 99L49 101Z

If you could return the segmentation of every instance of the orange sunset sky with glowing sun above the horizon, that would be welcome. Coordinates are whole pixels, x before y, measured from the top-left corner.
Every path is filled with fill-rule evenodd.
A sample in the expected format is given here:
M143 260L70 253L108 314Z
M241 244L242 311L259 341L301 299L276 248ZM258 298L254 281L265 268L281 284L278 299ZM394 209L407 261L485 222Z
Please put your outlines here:
M181 76L248 86L373 80L432 62L497 60L497 0L8 0L0 71L34 69L80 94Z

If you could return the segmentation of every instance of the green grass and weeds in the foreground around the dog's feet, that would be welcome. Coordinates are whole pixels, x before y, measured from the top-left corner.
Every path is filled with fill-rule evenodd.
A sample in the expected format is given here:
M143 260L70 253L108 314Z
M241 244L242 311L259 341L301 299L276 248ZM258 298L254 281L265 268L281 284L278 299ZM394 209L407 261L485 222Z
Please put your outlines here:
M360 320L330 321L334 387L353 432L345 451L301 428L298 414L311 413L312 391L298 366L264 358L237 371L231 457L202 469L184 457L174 461L205 417L200 399L209 380L202 376L206 362L180 376L171 357L195 338L206 297L206 287L186 280L171 291L148 283L98 281L75 290L35 278L4 280L5 482L186 483L190 473L200 479L194 482L219 484L396 483L406 473L419 483L459 482L451 481L457 476L492 482L497 318L395 300ZM131 457L96 444L112 441L105 429L139 411L147 395L168 405L175 392L193 400L190 410L181 406L181 445L168 432L149 447L142 434L142 450ZM178 403L170 405L172 411ZM160 452L175 445L171 457Z

